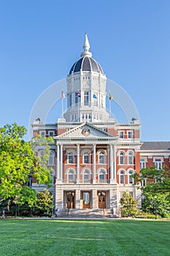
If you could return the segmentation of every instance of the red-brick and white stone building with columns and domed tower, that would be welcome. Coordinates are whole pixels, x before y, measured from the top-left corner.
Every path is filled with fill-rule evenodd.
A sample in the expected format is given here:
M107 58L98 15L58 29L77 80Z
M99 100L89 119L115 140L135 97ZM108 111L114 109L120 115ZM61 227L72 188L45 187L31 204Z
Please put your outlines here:
M53 136L48 166L53 170L52 187L55 208L62 217L116 216L125 191L139 199L141 192L132 175L140 167L169 166L170 143L141 143L138 120L117 124L106 108L107 78L92 58L88 36L84 51L66 78L67 110L57 123L32 124L34 136ZM114 97L114 95L113 95ZM41 154L43 148L36 148ZM32 181L32 188L45 187Z

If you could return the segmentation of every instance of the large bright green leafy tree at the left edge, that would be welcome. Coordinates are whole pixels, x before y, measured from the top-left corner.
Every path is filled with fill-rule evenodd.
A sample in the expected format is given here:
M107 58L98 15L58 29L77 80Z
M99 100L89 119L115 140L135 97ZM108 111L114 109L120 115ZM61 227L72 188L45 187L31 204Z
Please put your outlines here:
M36 177L39 184L48 184L51 180L50 170L45 165L50 151L45 148L42 160L34 153L34 146L47 146L52 140L37 137L26 142L24 135L26 128L16 123L0 128L0 198L16 205L27 202L31 207L36 201L36 192L26 186L28 176Z

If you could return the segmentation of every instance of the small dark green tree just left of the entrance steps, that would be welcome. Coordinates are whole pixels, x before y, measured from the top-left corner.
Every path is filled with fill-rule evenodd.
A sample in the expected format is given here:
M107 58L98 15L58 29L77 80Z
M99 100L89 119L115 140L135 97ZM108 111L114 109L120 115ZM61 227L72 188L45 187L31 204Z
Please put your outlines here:
M43 192L38 192L36 205L34 206L34 212L39 215L47 214L50 216L52 210L53 195L51 195L47 189L44 189Z

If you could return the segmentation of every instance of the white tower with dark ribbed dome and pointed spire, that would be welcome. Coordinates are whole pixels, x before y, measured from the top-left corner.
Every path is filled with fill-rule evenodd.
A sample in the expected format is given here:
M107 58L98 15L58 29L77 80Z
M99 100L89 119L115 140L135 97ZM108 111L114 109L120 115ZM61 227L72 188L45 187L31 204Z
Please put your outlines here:
M89 52L88 36L85 34L84 52L70 69L66 78L66 121L108 121L106 110L106 82L104 71Z

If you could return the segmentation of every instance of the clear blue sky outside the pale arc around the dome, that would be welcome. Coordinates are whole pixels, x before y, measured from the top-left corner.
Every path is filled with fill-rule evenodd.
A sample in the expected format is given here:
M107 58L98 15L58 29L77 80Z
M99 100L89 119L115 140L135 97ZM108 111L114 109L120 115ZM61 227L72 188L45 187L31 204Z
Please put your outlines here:
M39 94L90 51L134 100L142 140L170 140L170 1L0 1L0 126L26 126ZM51 122L57 120L53 117Z

